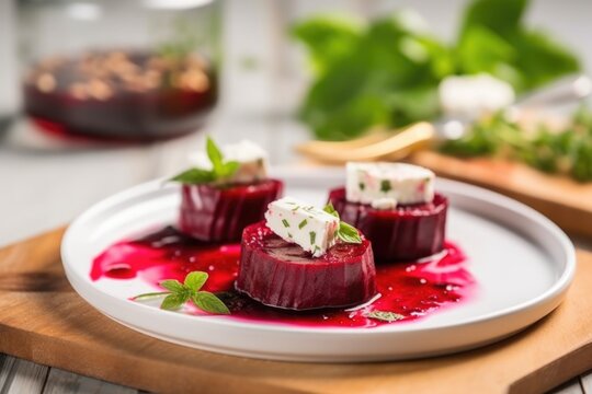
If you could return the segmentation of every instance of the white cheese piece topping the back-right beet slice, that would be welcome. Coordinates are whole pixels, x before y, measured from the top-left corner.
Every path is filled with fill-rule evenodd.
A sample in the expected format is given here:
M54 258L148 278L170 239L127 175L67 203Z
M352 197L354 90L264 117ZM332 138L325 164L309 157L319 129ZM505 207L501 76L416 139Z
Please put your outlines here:
M348 201L389 209L397 204L430 202L434 198L435 175L428 169L384 162L349 162L345 169Z

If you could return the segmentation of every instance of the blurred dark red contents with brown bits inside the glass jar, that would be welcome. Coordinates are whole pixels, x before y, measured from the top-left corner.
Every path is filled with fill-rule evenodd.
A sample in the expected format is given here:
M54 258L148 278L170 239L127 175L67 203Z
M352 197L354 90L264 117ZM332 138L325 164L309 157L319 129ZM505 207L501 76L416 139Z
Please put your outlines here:
M203 58L93 51L35 65L23 83L25 113L62 137L150 141L195 131L217 101Z

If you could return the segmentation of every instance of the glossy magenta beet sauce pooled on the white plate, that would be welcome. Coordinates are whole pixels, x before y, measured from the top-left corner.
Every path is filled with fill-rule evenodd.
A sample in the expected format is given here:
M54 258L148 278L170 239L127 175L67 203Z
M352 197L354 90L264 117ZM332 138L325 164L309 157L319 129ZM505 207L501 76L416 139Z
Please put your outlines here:
M374 327L392 324L366 317L369 311L389 311L403 316L398 322L420 318L457 303L469 293L475 280L466 256L453 243L425 262L379 264L376 269L380 294L363 308L283 311L262 305L235 291L240 257L239 244L207 244L168 227L134 241L121 241L94 258L90 277L126 280L139 278L152 287L164 279L183 281L194 270L206 271L204 290L218 296L231 311L228 318L283 323L297 326ZM196 311L196 313L198 313Z

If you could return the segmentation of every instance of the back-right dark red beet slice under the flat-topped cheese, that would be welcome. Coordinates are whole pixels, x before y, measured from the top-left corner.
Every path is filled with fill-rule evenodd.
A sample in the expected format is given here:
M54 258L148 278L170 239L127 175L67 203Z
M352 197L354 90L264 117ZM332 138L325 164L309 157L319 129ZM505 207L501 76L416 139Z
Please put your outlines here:
M329 201L341 220L372 242L377 263L425 257L444 247L448 199L441 194L436 193L432 202L379 210L348 201L341 187L330 192Z

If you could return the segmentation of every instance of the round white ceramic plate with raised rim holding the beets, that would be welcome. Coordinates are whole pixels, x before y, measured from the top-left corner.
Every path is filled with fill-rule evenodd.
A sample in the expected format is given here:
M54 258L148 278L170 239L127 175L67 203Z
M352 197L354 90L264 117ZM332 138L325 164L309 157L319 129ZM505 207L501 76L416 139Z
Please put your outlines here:
M276 170L286 194L319 205L343 183L342 171ZM374 328L325 328L192 316L128 301L152 289L139 280L91 281L92 259L126 235L173 223L178 186L150 182L90 208L61 245L66 275L91 305L117 322L163 340L217 352L291 361L353 362L456 352L512 335L551 312L574 274L573 245L553 222L510 198L439 179L451 198L447 239L469 257L477 293L425 318Z

